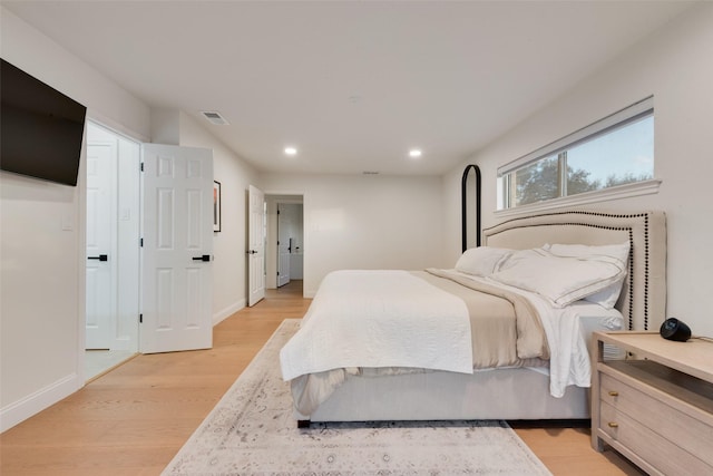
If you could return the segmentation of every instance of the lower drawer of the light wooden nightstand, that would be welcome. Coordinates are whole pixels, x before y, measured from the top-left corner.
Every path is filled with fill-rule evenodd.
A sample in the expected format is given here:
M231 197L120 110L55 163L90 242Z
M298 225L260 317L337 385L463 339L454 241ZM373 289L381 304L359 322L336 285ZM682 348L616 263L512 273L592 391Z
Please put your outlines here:
M653 414L652 418L655 419ZM599 431L604 431L615 443L634 451L665 475L713 474L713 466L682 450L668 438L652 431L651 428L643 426L611 405L600 404L600 421ZM707 441L710 444L710 436ZM699 457L703 455L702 453L697 454Z

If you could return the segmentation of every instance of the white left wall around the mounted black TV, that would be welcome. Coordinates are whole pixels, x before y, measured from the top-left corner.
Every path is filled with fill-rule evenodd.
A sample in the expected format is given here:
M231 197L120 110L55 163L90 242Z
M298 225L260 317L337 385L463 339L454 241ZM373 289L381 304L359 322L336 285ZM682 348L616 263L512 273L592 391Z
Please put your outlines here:
M1 8L0 54L88 107L148 137L140 100ZM0 173L0 430L84 385L86 163L77 187Z

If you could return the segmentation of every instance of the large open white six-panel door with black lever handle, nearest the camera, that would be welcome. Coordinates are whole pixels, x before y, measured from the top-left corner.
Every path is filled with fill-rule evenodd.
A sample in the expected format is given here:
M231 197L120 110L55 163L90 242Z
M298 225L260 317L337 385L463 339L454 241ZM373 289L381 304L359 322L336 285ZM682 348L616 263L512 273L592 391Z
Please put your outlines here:
M213 153L144 144L140 351L213 344Z

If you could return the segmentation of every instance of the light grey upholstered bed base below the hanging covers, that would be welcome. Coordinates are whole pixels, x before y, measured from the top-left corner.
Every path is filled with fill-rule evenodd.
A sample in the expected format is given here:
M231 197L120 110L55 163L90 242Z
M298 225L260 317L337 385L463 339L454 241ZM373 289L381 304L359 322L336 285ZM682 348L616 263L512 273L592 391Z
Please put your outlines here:
M588 419L588 389L569 387L549 395L549 377L530 369L499 369L473 375L426 372L353 377L335 390L310 421L534 420Z

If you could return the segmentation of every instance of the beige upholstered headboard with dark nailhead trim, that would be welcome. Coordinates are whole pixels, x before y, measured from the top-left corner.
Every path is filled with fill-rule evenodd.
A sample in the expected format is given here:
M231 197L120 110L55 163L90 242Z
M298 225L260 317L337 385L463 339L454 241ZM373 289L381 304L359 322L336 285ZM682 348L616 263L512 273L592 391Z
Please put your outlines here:
M545 243L603 245L628 240L628 274L616 308L628 318L629 330L657 330L666 319L666 216L663 212L549 212L510 218L485 229L482 234L485 245L516 250Z

